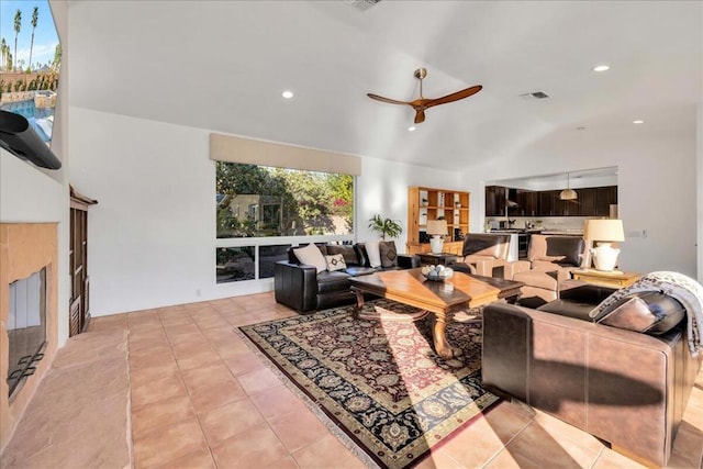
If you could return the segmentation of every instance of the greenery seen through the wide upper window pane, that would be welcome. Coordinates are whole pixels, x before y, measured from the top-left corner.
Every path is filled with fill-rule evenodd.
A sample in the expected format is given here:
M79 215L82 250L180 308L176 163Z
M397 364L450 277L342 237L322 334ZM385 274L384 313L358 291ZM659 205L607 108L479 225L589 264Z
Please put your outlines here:
M352 234L354 177L216 161L217 237Z

